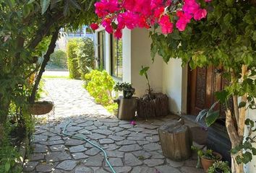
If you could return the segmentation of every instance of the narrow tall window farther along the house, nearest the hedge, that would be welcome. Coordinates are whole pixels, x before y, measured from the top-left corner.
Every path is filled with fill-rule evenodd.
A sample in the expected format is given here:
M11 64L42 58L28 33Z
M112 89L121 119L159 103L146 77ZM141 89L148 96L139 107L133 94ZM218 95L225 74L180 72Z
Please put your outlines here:
M105 69L105 30L98 32L98 67Z

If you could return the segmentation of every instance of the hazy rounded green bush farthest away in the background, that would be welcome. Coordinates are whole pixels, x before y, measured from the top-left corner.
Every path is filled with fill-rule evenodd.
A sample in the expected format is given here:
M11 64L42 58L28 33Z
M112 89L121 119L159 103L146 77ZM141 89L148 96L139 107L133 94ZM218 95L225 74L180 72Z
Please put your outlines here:
M50 64L62 68L67 68L67 53L63 50L55 50L50 57Z

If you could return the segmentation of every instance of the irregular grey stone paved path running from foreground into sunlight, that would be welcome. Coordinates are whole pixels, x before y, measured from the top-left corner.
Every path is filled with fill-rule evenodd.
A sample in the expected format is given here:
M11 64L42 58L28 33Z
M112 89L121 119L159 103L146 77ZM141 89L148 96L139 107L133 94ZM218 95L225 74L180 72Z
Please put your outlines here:
M192 159L181 162L166 159L162 154L157 129L175 116L137 120L137 125L130 125L129 121L118 120L95 104L81 84L76 80L46 80L48 99L51 95L56 105L56 119L54 123L36 126L34 151L27 158L24 172L110 172L97 148L61 133L69 120L72 123L67 128L68 133L79 133L101 145L118 173L202 172L195 168L195 154Z

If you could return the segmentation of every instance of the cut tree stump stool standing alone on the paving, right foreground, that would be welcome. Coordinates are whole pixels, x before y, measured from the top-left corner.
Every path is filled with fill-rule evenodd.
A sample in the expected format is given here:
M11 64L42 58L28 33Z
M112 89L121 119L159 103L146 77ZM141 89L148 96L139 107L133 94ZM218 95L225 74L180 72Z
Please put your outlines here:
M174 161L189 159L192 133L184 120L172 120L158 129L163 155Z

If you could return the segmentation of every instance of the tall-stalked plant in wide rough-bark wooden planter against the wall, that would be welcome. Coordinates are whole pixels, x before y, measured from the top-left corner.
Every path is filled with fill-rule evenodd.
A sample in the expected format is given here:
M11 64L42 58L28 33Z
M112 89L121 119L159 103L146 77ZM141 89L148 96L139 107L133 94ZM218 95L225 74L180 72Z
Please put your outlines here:
M147 94L140 97L137 102L137 116L138 117L161 117L169 113L168 110L168 97L163 93L154 93L150 86L148 79L149 67L143 67L140 70L140 75L145 76L148 89Z

